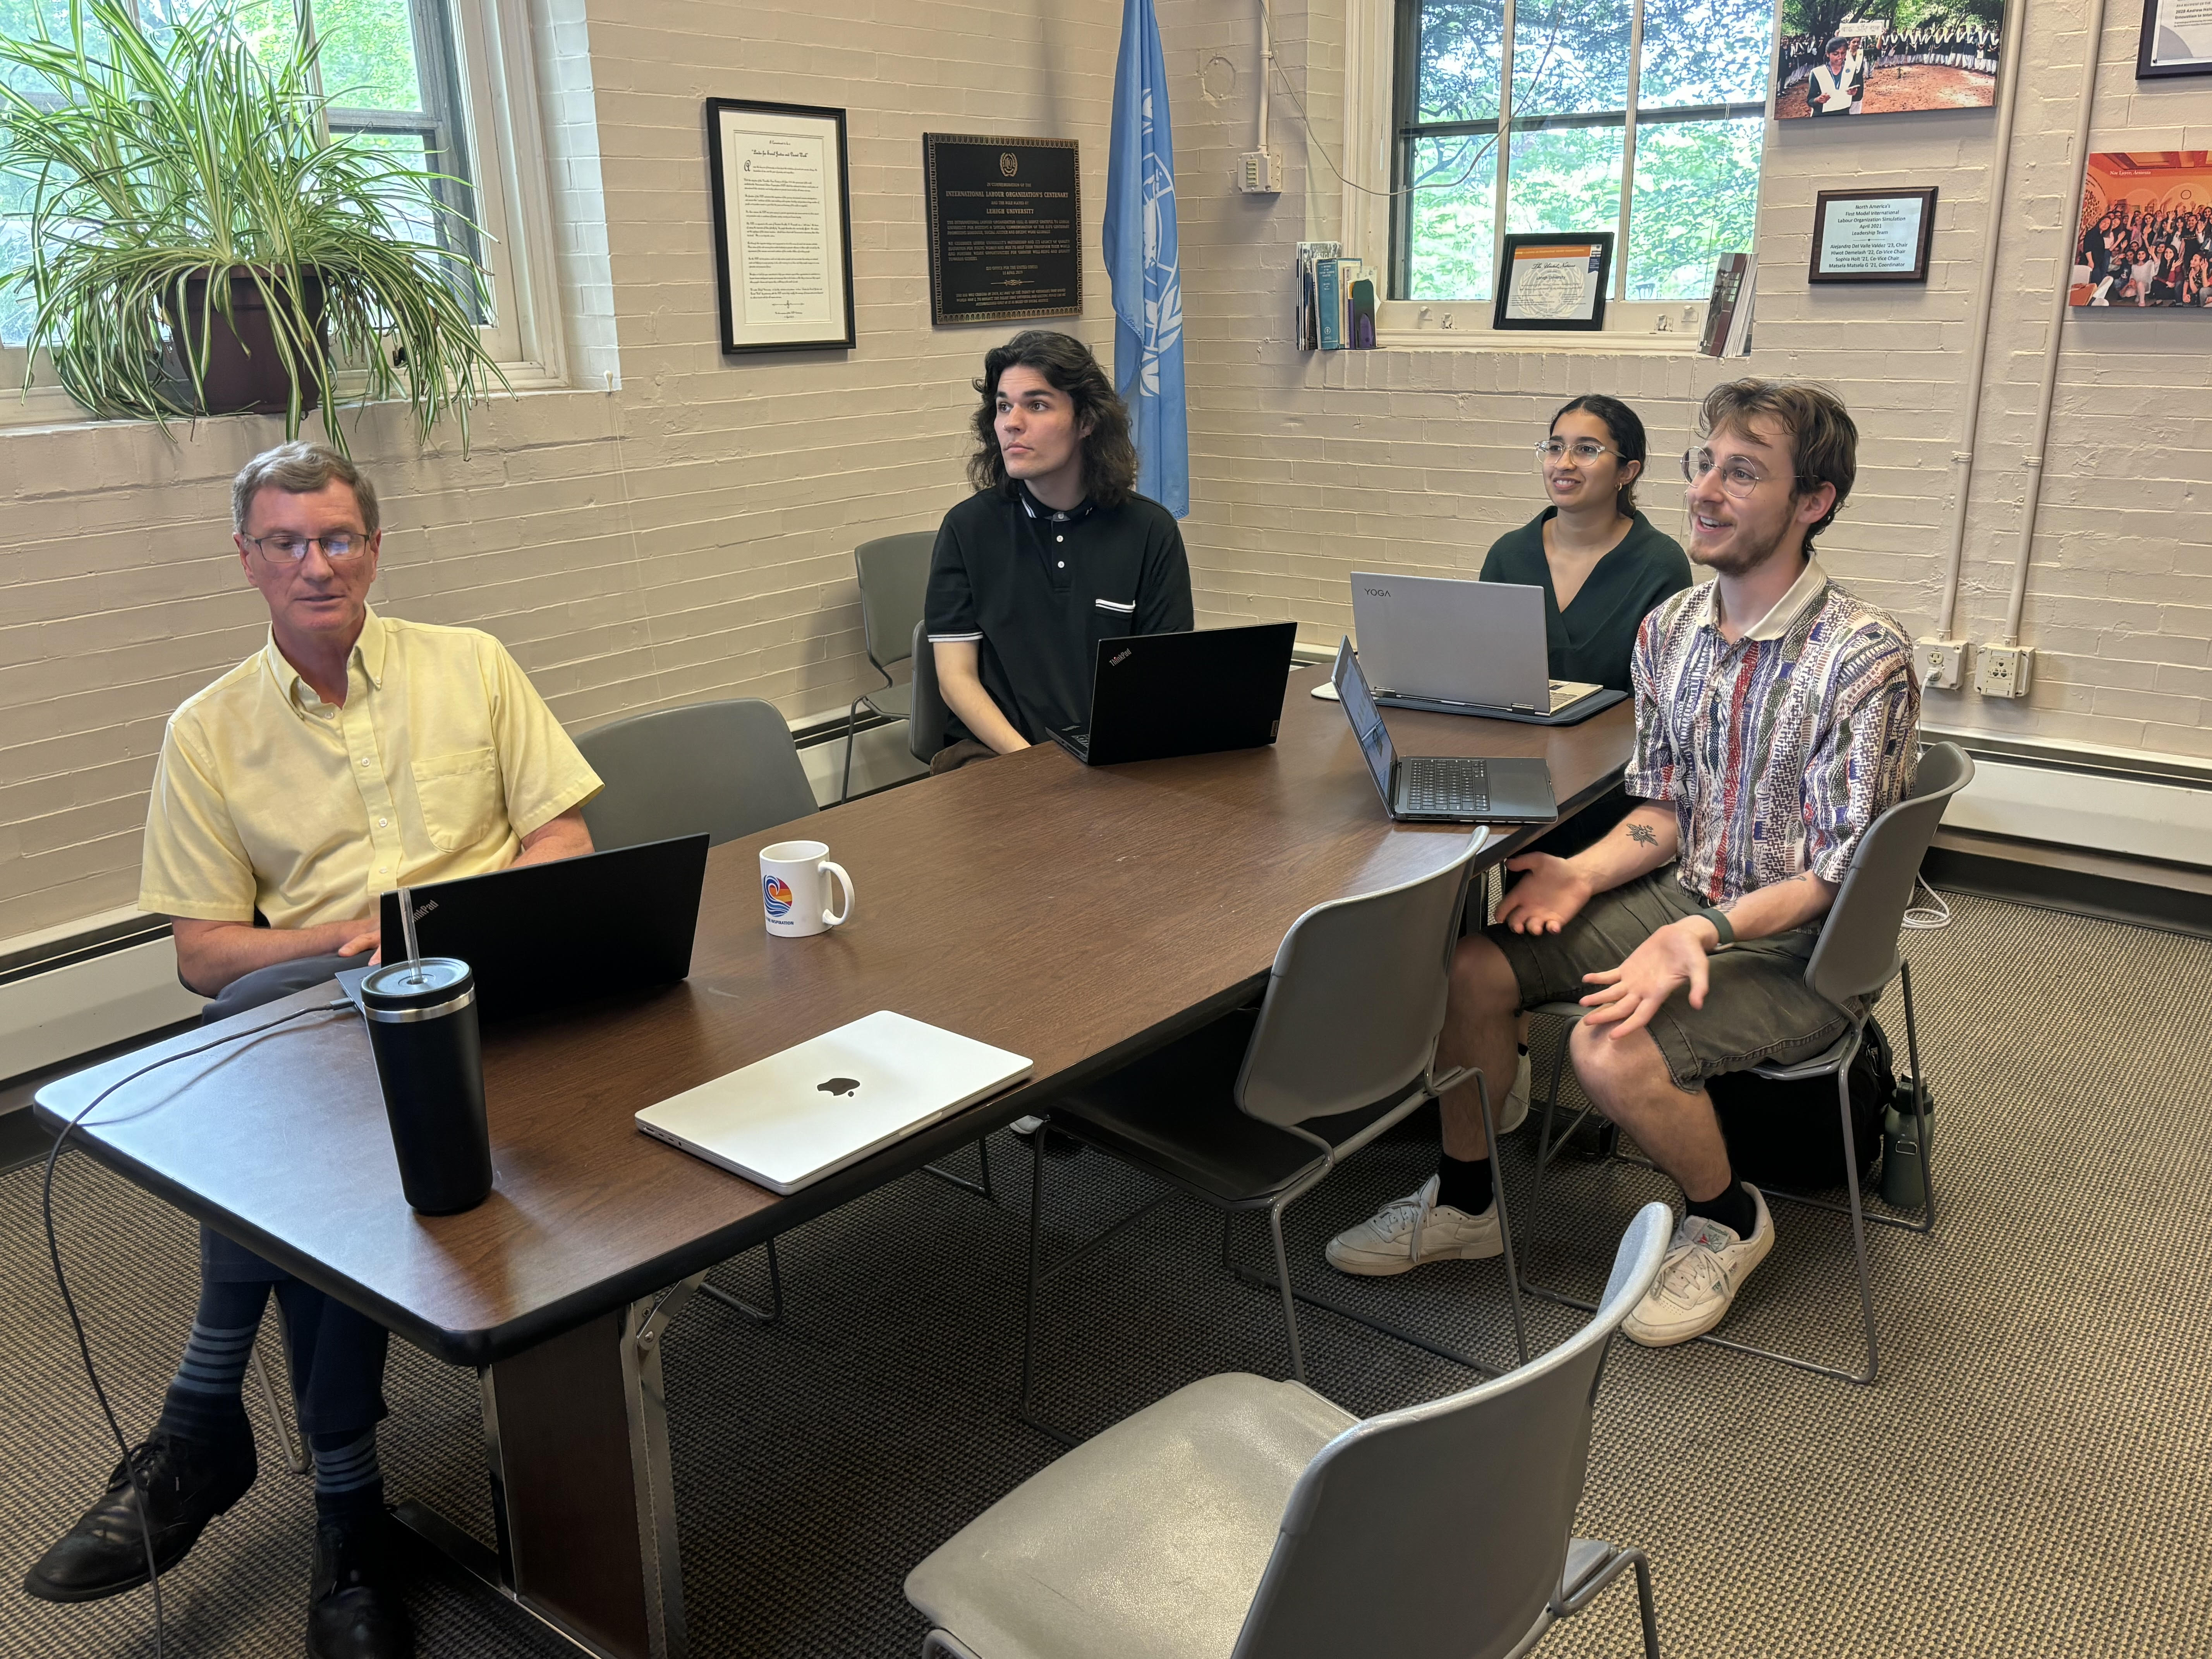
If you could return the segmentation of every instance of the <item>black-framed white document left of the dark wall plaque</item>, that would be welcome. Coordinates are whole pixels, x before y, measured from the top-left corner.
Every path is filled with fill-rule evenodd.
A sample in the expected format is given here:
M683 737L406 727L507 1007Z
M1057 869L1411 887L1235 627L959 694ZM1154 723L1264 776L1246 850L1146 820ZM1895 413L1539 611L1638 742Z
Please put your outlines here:
M845 111L706 102L723 352L843 349L852 321Z

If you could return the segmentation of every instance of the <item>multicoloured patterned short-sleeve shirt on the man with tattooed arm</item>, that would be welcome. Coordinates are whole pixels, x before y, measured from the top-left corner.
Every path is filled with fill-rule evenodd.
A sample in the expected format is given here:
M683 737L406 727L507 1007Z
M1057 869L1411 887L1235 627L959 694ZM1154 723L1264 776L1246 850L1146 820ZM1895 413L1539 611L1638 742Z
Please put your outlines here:
M1708 905L1812 872L1840 883L1913 781L1920 684L1905 630L1816 560L1736 644L1719 584L1644 617L1628 794L1672 801L1677 878Z

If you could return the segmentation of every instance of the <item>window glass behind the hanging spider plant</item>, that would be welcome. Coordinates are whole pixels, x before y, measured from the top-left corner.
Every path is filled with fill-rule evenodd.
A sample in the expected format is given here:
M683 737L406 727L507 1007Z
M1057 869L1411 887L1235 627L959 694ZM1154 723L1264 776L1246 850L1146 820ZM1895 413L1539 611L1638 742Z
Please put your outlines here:
M442 241L469 259L482 257L469 230L478 223L476 175L449 0L137 0L135 11L159 33L164 24L208 7L228 7L248 40L270 51L288 51L296 31L312 31L323 88L332 97L332 135L356 135L356 144L398 150L411 166L445 175L438 195L453 215L416 230L422 241ZM0 35L29 40L40 24L66 40L69 0L0 0ZM33 86L18 91L40 97ZM33 184L31 177L0 173L0 283L24 265L27 230L18 215L29 210ZM471 310L482 310L467 281L456 279L453 292ZM20 345L29 321L29 292L0 285L0 345Z

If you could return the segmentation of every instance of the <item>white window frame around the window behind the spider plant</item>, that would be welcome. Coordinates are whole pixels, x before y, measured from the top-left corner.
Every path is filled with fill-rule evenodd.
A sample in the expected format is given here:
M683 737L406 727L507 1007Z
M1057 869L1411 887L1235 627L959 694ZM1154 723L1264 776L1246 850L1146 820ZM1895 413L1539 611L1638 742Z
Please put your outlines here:
M135 9L135 0L133 0ZM478 334L484 352L507 374L515 392L564 387L566 349L560 290L555 288L553 217L546 184L544 128L538 115L538 64L531 51L529 0L407 0L420 80L425 20L445 13L442 40L429 42L436 60L438 131L467 159L467 192L460 210L482 237L473 257L489 272L493 316ZM314 27L312 0L294 0L303 27ZM334 108L332 126L345 131L418 131L431 111ZM458 204L458 197L456 197ZM22 345L0 343L0 429L91 422L93 416L53 383L53 367L40 352L29 396ZM338 396L347 383L358 389L358 372L338 369Z

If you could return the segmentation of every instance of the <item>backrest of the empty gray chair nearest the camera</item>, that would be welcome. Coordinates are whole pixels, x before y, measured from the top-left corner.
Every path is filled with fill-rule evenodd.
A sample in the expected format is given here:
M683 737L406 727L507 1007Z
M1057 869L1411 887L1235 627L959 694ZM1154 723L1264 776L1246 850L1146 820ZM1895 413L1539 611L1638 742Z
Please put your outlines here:
M1542 1358L1367 1418L1298 1475L1232 1659L1498 1659L1559 1593L1606 1345L1659 1276L1646 1203L1597 1314Z

